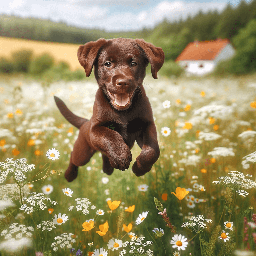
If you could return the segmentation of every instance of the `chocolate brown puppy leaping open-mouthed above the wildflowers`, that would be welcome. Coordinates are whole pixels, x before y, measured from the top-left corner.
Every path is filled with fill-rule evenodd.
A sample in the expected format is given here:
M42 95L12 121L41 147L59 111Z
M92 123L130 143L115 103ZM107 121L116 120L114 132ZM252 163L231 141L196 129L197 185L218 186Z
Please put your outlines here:
M87 77L94 66L99 89L90 120L74 115L55 97L62 115L80 129L66 179L73 181L78 166L86 165L97 151L102 152L104 173L111 175L114 168L128 169L135 140L142 151L132 170L136 176L146 174L159 158L160 150L151 105L142 83L149 62L152 76L157 79L157 72L164 64L162 48L143 39L101 38L80 46L78 60Z

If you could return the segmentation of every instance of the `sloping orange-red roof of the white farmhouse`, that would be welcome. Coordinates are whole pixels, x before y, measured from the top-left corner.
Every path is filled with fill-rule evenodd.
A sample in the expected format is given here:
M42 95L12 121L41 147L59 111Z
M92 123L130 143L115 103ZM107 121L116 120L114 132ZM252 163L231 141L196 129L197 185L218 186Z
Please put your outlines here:
M214 60L227 44L229 39L191 42L175 61L181 60Z

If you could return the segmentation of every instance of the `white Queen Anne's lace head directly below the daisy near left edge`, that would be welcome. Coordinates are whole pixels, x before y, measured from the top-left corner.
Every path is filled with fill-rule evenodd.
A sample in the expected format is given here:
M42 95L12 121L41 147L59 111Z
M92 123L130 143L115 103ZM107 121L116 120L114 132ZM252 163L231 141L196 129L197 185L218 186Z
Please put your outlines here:
M30 195L31 196L22 199L25 204L20 207L20 210L24 210L27 214L37 210L44 210L58 204L58 202L52 201L49 197L45 197L43 193L33 192L30 193Z

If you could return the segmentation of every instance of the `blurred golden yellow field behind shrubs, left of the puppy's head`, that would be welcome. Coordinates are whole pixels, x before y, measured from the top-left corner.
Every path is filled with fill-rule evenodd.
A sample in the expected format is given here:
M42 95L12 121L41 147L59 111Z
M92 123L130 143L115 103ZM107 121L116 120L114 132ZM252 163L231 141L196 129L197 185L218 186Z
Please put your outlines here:
M70 69L74 71L78 68L83 69L77 59L79 46L80 45L76 44L34 41L0 36L0 57L10 58L15 51L32 49L34 56L48 53L52 55L57 62L67 62L70 65Z

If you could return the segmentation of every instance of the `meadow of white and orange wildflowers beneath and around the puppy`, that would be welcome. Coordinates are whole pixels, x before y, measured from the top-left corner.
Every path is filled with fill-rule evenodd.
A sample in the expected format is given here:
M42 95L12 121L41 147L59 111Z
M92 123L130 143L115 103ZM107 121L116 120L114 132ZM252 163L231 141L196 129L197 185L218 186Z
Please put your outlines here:
M255 78L147 78L152 170L133 174L135 142L129 169L107 176L97 152L68 183L79 130L53 96L90 119L97 83L1 77L0 255L253 255Z

